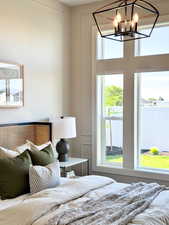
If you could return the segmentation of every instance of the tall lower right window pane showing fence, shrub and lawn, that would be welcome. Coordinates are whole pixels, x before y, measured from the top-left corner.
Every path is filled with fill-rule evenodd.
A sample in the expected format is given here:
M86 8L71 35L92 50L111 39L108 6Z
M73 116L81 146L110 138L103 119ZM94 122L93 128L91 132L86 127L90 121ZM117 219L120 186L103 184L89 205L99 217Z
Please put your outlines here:
M139 166L169 169L169 72L137 75Z

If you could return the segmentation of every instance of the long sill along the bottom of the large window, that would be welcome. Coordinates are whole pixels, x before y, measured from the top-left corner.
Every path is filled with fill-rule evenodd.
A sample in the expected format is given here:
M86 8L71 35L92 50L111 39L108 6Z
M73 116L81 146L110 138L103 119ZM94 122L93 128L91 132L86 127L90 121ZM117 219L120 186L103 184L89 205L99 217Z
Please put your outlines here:
M114 166L111 166L110 164L98 165L95 168L93 168L93 170L96 172L105 172L105 173L111 173L116 175L169 181L169 171L157 171L153 169L142 169L142 168L128 169L128 168L122 168L122 167L114 167Z

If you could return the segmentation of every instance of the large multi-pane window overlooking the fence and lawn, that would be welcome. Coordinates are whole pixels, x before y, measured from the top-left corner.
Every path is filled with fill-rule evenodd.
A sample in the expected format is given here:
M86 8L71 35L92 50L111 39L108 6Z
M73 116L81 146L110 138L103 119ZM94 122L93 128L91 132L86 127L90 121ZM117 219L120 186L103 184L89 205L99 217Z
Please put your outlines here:
M158 172L165 177L169 173L169 25L158 24L151 38L122 45L108 44L97 31L95 35L94 169L147 178L152 174L156 178Z

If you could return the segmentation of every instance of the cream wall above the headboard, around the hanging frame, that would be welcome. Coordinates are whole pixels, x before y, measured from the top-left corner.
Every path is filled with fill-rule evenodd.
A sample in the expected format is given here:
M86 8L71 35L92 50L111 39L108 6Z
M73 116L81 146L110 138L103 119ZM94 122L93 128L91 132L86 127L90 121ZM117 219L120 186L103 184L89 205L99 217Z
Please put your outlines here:
M70 9L57 0L0 0L0 5L0 61L25 69L25 106L0 109L0 123L69 113Z

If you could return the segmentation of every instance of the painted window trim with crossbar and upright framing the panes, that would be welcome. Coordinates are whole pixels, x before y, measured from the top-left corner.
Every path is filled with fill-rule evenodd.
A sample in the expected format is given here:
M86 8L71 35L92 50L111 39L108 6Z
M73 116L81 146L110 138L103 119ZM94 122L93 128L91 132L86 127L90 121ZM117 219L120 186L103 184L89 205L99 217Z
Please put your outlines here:
M159 23L169 21L169 15L161 16ZM149 179L167 180L169 171L137 168L138 144L137 138L137 114L135 104L134 73L169 71L169 54L153 56L134 56L134 42L125 42L124 58L96 60L96 32L92 27L92 170L111 174L127 175ZM132 69L130 69L132 68ZM125 71L125 72L124 72ZM97 96L96 74L112 75L122 73L124 75L124 162L123 168L112 165L97 165ZM127 97L126 97L127 96ZM128 107L130 106L130 107ZM134 119L133 119L134 118ZM134 123L135 122L135 123Z

